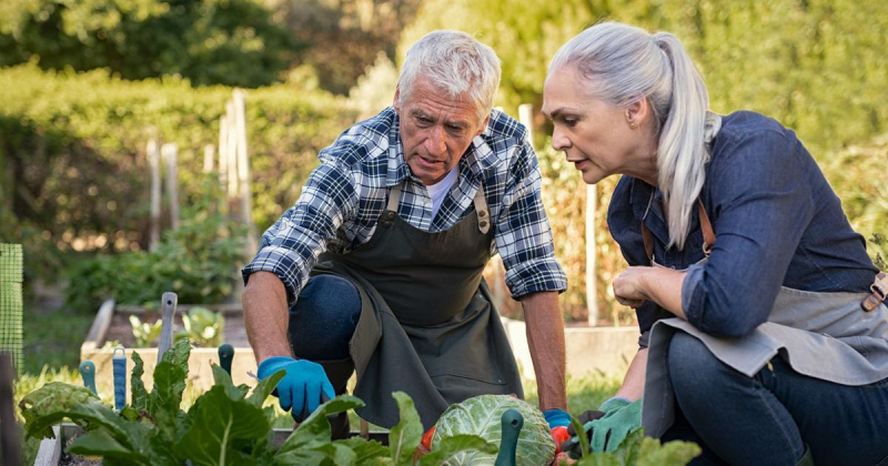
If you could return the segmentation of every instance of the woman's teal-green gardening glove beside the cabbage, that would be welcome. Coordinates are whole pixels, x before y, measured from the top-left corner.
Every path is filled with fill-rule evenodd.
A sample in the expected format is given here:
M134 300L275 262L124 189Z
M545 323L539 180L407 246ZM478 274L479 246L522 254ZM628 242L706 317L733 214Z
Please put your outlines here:
M642 399L629 402L613 397L602 403L597 411L581 414L579 422L592 452L613 452L630 432L642 426ZM568 452L572 458L579 458L582 452L576 433L572 427L567 432L573 437L562 444L561 449Z

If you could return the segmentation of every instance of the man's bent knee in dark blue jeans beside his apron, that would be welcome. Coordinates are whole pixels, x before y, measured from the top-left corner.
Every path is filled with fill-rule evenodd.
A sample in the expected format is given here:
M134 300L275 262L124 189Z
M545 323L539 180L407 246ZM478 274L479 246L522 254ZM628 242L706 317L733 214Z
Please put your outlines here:
M336 275L312 276L290 308L293 354L312 361L347 358L360 316L361 295L352 282Z

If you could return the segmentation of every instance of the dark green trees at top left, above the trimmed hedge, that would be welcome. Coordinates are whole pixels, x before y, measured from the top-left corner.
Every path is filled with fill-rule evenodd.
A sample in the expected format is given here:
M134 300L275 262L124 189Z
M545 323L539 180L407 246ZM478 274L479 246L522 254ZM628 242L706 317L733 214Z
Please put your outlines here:
M108 68L124 79L265 85L305 45L255 0L12 0L0 14L0 65Z

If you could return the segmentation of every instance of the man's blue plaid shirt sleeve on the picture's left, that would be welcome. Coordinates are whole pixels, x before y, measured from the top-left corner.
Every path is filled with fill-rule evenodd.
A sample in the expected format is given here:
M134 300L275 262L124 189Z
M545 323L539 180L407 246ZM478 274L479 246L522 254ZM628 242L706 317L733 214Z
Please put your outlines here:
M356 206L354 173L322 156L296 204L262 235L259 253L242 271L244 284L254 272L272 272L284 283L292 305L317 257L336 230L355 215Z

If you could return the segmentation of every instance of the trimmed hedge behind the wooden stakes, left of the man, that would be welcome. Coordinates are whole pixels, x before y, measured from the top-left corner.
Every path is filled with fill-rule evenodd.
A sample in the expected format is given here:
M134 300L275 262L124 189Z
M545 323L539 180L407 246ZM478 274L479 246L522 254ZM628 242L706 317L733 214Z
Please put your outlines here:
M33 64L0 69L0 180L14 180L0 183L0 210L30 229L8 227L4 220L0 232L13 230L0 234L21 237L14 242L34 259L33 252L57 249L147 249L149 139L178 144L180 201L195 202L204 195L203 148L219 141L230 98L229 88L192 89L175 79L122 81L102 70L54 73ZM260 230L295 202L317 152L353 121L343 99L321 91L250 91L246 128ZM26 273L42 277L52 269L48 263L31 271L37 265L29 260Z

